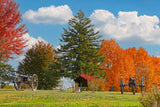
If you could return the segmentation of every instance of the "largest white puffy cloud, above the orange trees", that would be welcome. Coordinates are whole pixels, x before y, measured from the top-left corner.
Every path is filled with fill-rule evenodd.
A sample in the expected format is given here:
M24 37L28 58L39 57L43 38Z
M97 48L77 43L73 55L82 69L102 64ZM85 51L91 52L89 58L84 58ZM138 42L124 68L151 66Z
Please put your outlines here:
M160 44L160 27L157 16L138 16L137 11L118 13L118 17L107 10L95 10L90 19L105 39L118 41L139 40L140 43Z

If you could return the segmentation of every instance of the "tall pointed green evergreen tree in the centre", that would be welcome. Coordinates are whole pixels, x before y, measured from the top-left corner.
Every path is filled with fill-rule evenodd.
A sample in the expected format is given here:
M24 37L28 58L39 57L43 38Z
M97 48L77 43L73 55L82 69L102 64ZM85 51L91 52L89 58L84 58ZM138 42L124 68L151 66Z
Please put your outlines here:
M58 53L66 76L75 78L81 71L85 74L100 74L100 63L104 60L99 54L101 36L93 27L91 20L80 10L69 20L68 28L64 28L60 39L63 44L60 44Z

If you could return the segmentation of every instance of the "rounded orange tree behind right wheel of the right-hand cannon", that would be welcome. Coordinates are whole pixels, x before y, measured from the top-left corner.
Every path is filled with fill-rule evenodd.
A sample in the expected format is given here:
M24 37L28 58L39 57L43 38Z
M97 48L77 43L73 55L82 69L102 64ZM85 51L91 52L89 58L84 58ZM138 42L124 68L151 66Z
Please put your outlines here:
M148 52L140 47L137 50L136 56L134 57L135 63L135 79L138 84L141 83L141 77L143 77L144 83L146 85L145 89L148 89L152 83L152 61L151 56L148 55ZM139 89L140 90L140 89Z

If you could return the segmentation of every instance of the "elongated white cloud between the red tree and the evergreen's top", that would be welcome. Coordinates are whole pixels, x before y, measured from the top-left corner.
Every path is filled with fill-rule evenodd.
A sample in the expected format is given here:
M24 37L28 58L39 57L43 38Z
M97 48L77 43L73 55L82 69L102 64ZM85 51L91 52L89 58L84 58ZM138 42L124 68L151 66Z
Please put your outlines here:
M41 7L38 11L28 10L23 14L23 19L29 22L39 24L65 24L73 17L72 11L68 5L55 7Z

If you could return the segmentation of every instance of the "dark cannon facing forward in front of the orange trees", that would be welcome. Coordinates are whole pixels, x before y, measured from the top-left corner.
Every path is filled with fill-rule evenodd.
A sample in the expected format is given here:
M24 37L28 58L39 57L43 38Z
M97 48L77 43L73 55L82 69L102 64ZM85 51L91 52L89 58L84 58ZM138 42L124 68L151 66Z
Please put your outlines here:
M132 87L133 95L135 95L135 87L136 86L141 87L141 92L143 92L143 89L145 87L145 85L143 84L143 77L141 79L141 84L136 84L136 80L134 78L129 78L129 83L128 84L123 84L123 77L121 77L121 81L120 81L121 94L123 94L125 86Z

